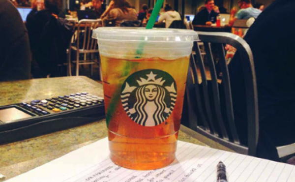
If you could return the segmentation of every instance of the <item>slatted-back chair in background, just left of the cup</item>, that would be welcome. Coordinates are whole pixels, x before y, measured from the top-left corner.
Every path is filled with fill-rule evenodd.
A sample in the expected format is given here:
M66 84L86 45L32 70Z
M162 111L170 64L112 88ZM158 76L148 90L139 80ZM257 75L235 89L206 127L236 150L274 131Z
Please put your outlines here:
M102 21L98 20L80 20L76 24L77 30L75 31L72 41L68 49L68 71L69 75L72 76L71 63L76 63L76 76L79 76L79 66L84 64L90 64L91 75L92 65L95 63L99 64L99 56L96 60L94 57L95 53L99 53L97 40L92 38L92 30L102 27ZM82 38L81 38L82 37ZM75 51L76 59L71 61L71 51ZM84 59L80 60L80 54L84 54Z

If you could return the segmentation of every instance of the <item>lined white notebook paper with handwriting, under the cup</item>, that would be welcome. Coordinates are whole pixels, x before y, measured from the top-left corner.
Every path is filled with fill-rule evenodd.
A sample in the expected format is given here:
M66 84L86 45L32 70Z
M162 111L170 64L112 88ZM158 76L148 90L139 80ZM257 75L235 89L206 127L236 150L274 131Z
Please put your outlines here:
M109 159L104 138L7 182L216 182L216 165L228 182L295 182L295 166L178 141L177 160L151 171L129 170Z

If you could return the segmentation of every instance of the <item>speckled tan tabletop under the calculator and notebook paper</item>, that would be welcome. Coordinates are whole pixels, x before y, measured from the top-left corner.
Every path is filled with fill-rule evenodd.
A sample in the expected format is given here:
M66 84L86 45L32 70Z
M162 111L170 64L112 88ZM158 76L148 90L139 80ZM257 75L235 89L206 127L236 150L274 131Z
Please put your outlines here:
M0 105L82 91L103 95L102 85L86 77L2 82L0 88ZM5 179L0 181L18 176L104 137L107 137L107 127L105 120L101 120L23 141L0 145L0 173L6 176ZM178 139L230 151L185 126L181 126Z

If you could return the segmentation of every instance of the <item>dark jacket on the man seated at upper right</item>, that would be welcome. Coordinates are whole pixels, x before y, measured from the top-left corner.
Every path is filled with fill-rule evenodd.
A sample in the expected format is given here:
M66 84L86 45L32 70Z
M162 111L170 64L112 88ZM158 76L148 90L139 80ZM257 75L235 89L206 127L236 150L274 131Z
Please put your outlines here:
M218 13L216 13L214 10L211 10L209 14L207 8L205 8L196 14L193 20L193 25L206 25L206 22L215 23L217 15Z

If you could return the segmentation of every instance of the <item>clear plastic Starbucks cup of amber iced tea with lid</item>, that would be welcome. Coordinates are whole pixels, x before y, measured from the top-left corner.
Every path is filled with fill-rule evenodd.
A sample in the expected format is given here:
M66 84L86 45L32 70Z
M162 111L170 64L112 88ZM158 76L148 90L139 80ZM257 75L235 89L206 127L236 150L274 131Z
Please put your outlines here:
M98 28L110 157L151 170L175 159L193 30Z

